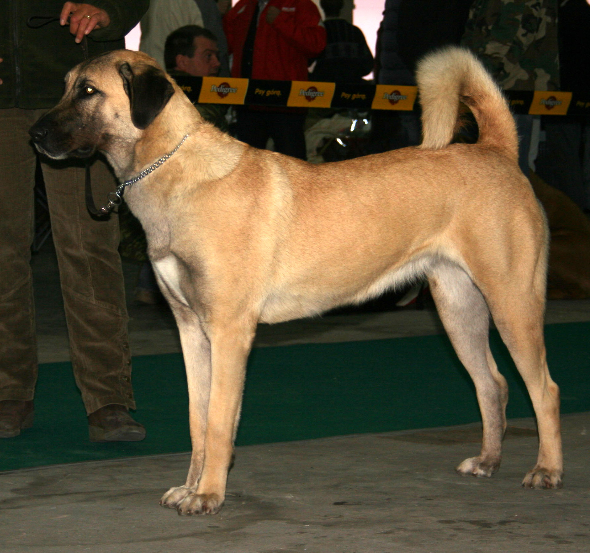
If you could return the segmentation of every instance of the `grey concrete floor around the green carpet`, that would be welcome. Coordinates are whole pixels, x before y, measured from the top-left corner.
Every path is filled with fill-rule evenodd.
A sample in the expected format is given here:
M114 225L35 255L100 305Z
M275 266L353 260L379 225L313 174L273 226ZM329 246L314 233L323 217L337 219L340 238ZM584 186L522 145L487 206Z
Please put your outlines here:
M50 245L33 267L40 359L63 361L67 337ZM126 265L130 297L136 270ZM129 312L134 355L178 351L165 306L130 302ZM547 320L590 320L590 302L549 302ZM261 326L257 346L438 332L427 306ZM168 487L183 483L188 454L0 473L0 551L586 552L589 430L590 413L563 417L561 490L520 487L538 447L532 419L510 421L503 466L491 479L453 470L478 452L478 425L239 447L224 509L196 518L158 506Z

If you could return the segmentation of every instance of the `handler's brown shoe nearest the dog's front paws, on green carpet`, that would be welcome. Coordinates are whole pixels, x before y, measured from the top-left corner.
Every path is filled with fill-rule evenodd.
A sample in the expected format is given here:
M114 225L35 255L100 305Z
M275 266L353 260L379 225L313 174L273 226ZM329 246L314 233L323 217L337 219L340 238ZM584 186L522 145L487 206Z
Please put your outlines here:
M105 405L88 415L90 441L140 441L146 429L127 413L124 405Z

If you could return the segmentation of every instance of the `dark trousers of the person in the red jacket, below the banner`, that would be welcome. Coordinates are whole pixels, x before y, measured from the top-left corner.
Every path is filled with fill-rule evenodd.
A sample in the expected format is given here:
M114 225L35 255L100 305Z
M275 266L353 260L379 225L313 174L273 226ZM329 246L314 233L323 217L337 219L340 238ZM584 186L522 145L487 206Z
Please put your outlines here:
M306 114L307 110L284 113L243 107L237 112L236 136L260 149L265 149L268 139L272 138L275 152L307 159L303 133Z

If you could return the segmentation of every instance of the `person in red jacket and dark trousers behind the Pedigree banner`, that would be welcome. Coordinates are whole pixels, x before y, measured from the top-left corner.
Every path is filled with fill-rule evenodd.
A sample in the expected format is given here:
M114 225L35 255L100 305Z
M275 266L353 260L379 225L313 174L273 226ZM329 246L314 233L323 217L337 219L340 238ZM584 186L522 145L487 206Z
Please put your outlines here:
M307 80L309 60L326 47L326 30L312 0L240 0L224 17L232 77ZM243 107L237 138L305 159L306 111L297 108Z

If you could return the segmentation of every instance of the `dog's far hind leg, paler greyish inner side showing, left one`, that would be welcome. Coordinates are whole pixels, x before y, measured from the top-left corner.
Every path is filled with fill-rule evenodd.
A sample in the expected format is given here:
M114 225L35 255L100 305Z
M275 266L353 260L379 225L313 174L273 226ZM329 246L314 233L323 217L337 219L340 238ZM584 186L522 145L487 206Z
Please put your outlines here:
M455 352L475 384L483 421L481 453L464 460L457 472L491 476L500 467L508 386L490 352L490 313L480 290L457 265L441 261L428 282Z

